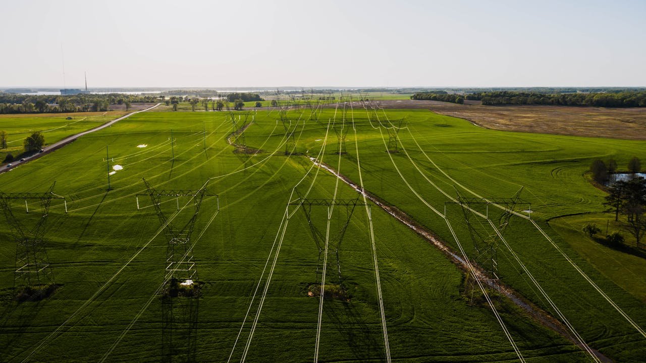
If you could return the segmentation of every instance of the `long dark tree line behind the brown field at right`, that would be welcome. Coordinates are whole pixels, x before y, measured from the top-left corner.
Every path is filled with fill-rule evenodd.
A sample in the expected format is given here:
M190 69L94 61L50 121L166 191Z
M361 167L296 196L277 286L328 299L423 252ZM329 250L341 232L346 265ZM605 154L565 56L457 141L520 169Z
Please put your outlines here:
M538 92L475 92L466 99L482 101L483 105L560 105L596 107L646 107L646 92L593 92L545 94Z

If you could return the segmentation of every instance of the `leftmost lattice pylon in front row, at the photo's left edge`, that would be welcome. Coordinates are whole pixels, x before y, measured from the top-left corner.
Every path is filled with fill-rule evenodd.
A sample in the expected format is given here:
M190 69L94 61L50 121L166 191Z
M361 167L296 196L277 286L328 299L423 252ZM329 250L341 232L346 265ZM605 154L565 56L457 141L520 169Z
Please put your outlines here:
M52 184L47 192L43 193L5 193L0 192L0 206L5 213L5 218L16 238L16 269L14 269L14 288L44 287L54 284L54 274L49 265L47 251L45 251L45 223L49 215L49 207L54 199L62 199L67 213L65 198L54 194ZM34 218L18 218L12 211L12 202L24 200L26 213L29 213L30 200L36 200L40 207L40 215ZM36 211L36 213L38 213Z

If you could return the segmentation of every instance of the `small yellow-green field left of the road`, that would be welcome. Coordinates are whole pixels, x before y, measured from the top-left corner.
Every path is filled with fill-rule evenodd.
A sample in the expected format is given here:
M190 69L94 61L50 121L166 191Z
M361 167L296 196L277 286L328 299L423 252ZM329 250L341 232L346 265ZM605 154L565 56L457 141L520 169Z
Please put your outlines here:
M50 144L78 132L92 129L103 123L127 114L123 111L74 112L69 114L3 114L0 115L0 130L8 133L7 149L0 149L0 158L12 152L23 152L23 140L32 132L40 131L45 142ZM72 119L67 119L70 116Z

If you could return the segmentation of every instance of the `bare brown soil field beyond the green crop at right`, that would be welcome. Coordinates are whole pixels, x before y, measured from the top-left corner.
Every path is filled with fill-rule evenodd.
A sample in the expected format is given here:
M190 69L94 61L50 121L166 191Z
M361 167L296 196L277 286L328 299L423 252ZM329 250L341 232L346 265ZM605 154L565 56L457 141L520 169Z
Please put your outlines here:
M375 101L386 109L428 109L487 129L646 140L646 108L457 105L440 101Z

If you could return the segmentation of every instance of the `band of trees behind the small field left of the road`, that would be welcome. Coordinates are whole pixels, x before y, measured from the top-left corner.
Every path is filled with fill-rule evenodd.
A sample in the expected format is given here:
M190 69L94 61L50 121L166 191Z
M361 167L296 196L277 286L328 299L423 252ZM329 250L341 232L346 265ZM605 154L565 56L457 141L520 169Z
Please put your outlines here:
M0 93L0 114L107 111L110 105L125 105L127 110L131 103L152 103L158 99L118 93L70 96Z

